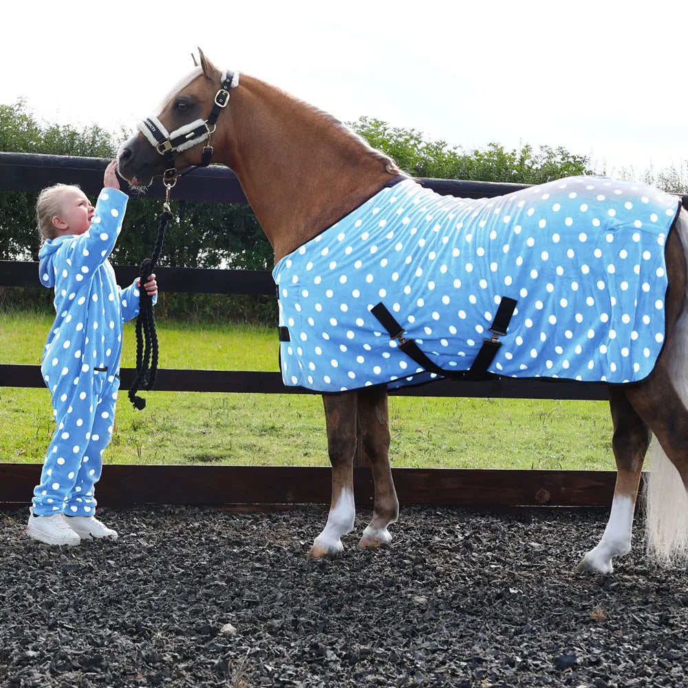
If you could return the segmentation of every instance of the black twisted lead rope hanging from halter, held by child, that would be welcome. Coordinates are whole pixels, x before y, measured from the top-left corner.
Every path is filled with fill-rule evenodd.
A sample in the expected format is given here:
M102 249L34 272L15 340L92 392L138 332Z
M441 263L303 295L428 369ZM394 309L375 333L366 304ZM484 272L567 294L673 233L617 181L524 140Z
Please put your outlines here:
M129 401L135 409L141 411L146 407L146 400L137 396L139 389L153 389L155 377L158 375L158 332L155 330L155 316L153 315L153 297L144 289L149 275L155 272L158 265L162 242L165 237L165 228L172 217L169 206L170 189L174 184L168 185L167 195L162 213L160 213L160 226L158 226L158 239L155 241L153 255L142 261L139 272L139 308L136 318L136 378L129 389Z

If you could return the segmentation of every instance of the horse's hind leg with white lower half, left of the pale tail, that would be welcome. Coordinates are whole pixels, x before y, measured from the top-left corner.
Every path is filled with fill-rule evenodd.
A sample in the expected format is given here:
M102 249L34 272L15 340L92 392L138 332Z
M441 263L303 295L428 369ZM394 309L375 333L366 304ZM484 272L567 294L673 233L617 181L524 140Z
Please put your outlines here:
M614 423L612 447L617 471L612 511L599 544L583 557L577 568L578 571L603 574L612 572L612 557L630 552L638 484L650 438L647 425L630 405L622 389L610 387L609 403Z

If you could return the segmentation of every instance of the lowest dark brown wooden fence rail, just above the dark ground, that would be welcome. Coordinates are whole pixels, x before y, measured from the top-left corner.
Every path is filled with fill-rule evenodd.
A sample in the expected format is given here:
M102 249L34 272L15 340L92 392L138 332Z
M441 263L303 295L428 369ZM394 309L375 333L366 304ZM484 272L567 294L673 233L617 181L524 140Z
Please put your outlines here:
M0 463L0 506L28 503L39 464ZM613 471L392 469L399 502L462 508L515 506L607 507ZM151 486L160 486L156 491ZM130 504L328 504L326 466L122 466L106 464L100 506ZM372 506L367 467L354 469L354 499Z

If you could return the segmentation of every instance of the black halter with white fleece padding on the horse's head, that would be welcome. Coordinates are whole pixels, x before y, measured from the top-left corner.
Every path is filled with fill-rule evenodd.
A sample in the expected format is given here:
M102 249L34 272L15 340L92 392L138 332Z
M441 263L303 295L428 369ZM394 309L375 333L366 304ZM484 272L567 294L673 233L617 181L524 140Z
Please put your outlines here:
M220 111L227 107L229 103L229 91L239 85L239 72L224 72L222 74L222 85L219 91L215 94L213 102L213 109L208 115L207 120L194 120L184 125L173 132L167 131L165 126L155 116L150 116L142 122L138 122L138 130L151 142L155 150L164 155L165 158L165 172L163 180L167 184L172 185L178 178L177 169L175 168L174 154L186 151L186 149L195 146L196 144L208 139L208 143L203 147L203 157L197 167L207 167L211 162L213 155L213 147L210 144L210 138L213 131L215 131L215 122ZM190 171L190 170L189 170Z

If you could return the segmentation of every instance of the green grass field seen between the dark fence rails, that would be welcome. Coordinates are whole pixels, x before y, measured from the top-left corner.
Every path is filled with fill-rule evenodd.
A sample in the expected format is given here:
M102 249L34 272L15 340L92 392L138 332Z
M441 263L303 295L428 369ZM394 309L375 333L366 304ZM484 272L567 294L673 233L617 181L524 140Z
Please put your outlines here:
M0 363L38 364L50 316L0 314ZM160 367L277 370L274 328L158 321ZM122 365L133 367L133 323ZM120 394L105 461L140 464L327 465L316 395ZM614 468L605 402L391 397L394 466ZM54 424L47 389L0 387L0 460L40 462Z

